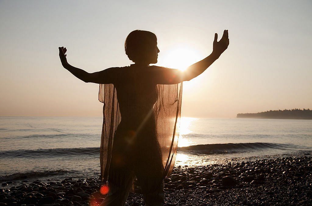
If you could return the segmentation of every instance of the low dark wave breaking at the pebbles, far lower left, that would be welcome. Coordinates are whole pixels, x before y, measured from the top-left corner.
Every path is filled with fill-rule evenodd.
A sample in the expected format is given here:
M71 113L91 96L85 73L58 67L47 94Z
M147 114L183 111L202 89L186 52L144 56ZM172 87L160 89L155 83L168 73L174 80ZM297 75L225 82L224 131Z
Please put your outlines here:
M20 179L35 179L35 178L42 178L42 177L48 177L52 175L63 175L66 173L70 173L71 171L67 170L46 170L46 171L31 171L31 172L22 172L22 173L14 173L10 175L5 175L0 177L0 182L5 181L12 181L12 180L20 180Z

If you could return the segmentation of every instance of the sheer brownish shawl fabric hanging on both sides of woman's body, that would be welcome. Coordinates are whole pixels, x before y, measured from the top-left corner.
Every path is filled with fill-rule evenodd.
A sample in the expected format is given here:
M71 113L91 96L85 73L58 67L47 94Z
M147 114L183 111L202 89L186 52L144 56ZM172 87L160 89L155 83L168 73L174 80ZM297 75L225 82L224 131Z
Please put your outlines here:
M153 112L157 140L162 153L164 179L172 173L178 149L182 82L171 85L158 84L156 88L158 98L154 104ZM103 185L109 180L114 135L121 121L114 84L100 84L99 101L103 103L103 128L100 146L101 183ZM134 192L133 188L134 184L132 185L132 192Z

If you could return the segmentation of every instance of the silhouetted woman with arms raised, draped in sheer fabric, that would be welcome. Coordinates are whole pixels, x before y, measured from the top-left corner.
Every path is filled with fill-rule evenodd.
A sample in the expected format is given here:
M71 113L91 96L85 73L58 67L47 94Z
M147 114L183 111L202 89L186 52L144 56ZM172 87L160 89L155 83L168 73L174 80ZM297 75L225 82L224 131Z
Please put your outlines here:
M216 33L212 53L184 72L149 66L157 63L159 49L155 34L148 31L135 30L126 38L125 52L134 64L94 73L68 64L66 48L59 47L64 68L82 81L100 84L101 178L109 183L101 205L124 205L135 177L146 205L164 204L163 179L173 169L177 148L182 95L178 84L200 75L227 49L228 31L219 42L217 37Z

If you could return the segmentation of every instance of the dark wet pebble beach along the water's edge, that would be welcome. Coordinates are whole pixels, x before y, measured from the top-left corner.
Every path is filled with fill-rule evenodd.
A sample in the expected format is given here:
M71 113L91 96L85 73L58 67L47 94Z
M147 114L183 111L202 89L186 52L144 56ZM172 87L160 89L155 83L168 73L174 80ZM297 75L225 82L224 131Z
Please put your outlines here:
M312 157L261 159L239 163L177 167L165 179L168 206L178 205L312 205ZM2 183L1 205L98 205L96 178ZM139 189L139 188L137 188ZM127 206L144 205L130 193Z

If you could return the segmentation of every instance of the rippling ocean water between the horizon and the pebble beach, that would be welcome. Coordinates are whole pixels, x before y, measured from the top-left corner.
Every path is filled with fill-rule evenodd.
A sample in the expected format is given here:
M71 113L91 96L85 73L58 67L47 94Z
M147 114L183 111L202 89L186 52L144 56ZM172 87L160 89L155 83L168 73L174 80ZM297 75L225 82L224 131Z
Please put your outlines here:
M0 117L0 182L99 177L102 117ZM312 120L182 117L175 167L312 152Z

